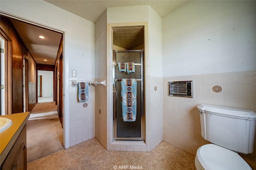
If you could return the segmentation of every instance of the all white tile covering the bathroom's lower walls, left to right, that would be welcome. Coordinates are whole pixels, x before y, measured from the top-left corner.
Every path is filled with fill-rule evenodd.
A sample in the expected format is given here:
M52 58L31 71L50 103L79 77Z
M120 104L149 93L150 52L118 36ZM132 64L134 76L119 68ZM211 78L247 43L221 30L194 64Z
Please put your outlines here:
M71 86L71 80L90 79L70 78L70 146L96 136L107 150L146 152L164 140L196 154L198 147L207 143L201 137L196 106L206 103L256 111L256 71L164 78L146 76L145 143L112 142L110 84L107 81L107 87L89 87L88 107L84 108L78 102L77 88ZM193 80L194 98L168 96L168 81L171 80ZM220 93L212 91L215 85L222 87Z

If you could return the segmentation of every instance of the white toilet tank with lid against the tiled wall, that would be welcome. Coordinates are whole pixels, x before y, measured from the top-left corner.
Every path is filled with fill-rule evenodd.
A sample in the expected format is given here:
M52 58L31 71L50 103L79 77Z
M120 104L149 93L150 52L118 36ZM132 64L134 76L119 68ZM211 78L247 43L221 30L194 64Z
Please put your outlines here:
M202 137L220 147L243 154L253 152L256 113L246 109L197 106Z

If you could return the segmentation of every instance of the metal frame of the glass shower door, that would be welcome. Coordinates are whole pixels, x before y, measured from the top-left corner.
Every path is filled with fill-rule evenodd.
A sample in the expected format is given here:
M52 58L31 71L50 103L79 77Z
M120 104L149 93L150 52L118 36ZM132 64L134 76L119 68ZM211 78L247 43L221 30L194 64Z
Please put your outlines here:
M116 107L116 99L117 99L117 91L116 91L116 53L128 53L128 52L140 52L140 64L134 63L134 65L141 65L140 72L141 72L141 119L140 119L140 137L117 137L117 107ZM144 116L144 49L141 50L123 50L123 51L116 51L113 50L113 141L144 141L145 140L145 116Z

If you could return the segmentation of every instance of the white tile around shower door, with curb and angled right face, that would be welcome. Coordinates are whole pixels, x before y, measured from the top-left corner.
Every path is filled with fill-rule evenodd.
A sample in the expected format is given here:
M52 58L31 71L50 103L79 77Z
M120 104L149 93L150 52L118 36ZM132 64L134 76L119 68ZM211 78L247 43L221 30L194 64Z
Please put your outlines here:
M110 81L110 80L109 80ZM108 96L110 95L110 86L108 84ZM154 87L157 90L154 90ZM109 151L129 151L129 152L150 152L154 149L163 139L163 117L162 117L162 77L146 77L146 90L144 91L146 100L145 111L145 143L138 141L112 141L112 111L108 109L107 115L107 150ZM110 97L109 97L110 98ZM108 108L112 107L111 98L107 100Z

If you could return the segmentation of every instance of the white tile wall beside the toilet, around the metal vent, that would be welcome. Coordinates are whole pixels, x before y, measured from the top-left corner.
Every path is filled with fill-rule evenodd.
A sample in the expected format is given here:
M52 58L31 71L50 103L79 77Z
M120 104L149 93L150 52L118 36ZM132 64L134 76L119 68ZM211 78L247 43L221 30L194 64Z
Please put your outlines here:
M168 96L168 81L174 80L193 80L194 97ZM221 92L212 90L216 85ZM208 143L201 137L199 104L256 111L256 70L163 77L163 89L163 140L194 155Z

